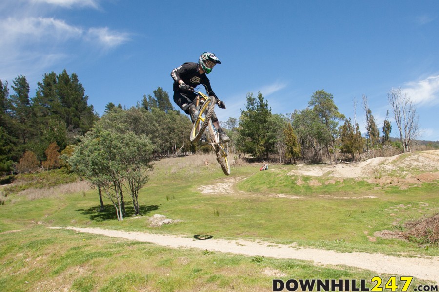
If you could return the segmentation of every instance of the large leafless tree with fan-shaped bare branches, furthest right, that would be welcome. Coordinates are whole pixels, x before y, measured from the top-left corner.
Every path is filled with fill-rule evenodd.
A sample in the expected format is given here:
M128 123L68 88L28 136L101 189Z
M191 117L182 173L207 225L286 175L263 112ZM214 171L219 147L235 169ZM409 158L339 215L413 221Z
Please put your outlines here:
M411 152L410 145L419 135L419 116L413 102L401 88L392 88L387 92L389 104L395 115L399 137L405 152Z

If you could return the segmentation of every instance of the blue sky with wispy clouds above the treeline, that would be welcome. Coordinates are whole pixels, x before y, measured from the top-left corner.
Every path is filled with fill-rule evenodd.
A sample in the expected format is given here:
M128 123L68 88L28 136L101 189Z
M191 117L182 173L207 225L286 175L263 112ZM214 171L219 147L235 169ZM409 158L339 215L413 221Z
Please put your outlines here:
M347 117L358 101L362 129L367 96L382 127L387 92L400 87L416 102L419 138L439 140L437 0L8 0L0 31L3 82L26 76L33 97L44 73L66 69L100 115L158 87L172 99L171 70L210 51L222 61L209 74L227 106L220 121L239 118L248 92L287 114L323 89Z

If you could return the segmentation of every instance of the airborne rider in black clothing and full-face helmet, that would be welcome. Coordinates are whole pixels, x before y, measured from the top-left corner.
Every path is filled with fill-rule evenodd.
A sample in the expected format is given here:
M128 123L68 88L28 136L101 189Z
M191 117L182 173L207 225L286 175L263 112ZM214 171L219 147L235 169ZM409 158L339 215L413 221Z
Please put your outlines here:
M209 96L214 96L217 99L218 106L221 109L225 109L224 102L218 99L218 97L212 91L210 81L206 76L206 74L212 72L212 68L216 64L221 64L221 61L215 56L215 54L205 52L200 55L198 64L186 62L171 72L171 77L174 79L174 102L180 107L181 110L190 115L192 123L194 123L197 119L197 109L194 104L197 94L194 93L194 88L200 84L204 85ZM215 112L212 114L212 123L215 128L217 128L221 141L223 143L229 142L230 138L221 128ZM200 141L201 144L207 143L205 134L201 136Z

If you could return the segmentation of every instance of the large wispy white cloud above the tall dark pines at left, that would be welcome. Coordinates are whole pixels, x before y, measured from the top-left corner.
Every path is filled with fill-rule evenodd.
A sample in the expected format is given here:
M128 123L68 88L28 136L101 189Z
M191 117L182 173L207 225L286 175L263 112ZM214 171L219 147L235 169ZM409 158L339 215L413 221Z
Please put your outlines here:
M108 28L82 28L62 19L20 16L0 19L0 78L32 76L71 62L85 46L87 52L115 48L129 40L127 33ZM29 78L31 79L31 78ZM31 81L31 80L28 80Z

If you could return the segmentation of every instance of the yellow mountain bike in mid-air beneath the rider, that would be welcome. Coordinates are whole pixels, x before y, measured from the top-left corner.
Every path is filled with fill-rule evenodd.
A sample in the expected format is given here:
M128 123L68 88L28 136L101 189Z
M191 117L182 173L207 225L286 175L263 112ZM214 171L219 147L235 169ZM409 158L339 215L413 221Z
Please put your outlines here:
M225 175L230 175L230 164L227 152L227 144L220 140L220 133L212 124L212 114L214 112L216 99L213 96L207 96L200 91L194 91L197 98L194 100L197 108L197 119L194 122L191 130L191 142L200 140L202 134L207 132L207 141L217 155L217 161L221 165L221 169ZM207 131L206 131L207 129Z

